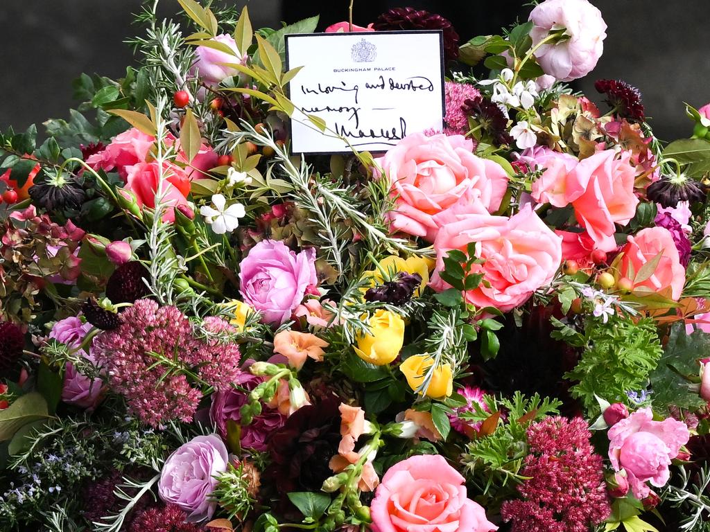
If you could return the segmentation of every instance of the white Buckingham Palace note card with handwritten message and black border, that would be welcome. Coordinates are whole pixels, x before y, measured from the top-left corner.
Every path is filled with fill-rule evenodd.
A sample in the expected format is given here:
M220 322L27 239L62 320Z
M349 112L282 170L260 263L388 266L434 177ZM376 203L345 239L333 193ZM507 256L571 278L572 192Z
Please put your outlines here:
M289 84L293 153L349 152L337 135L383 152L410 133L442 131L442 42L441 31L286 35L286 65L302 67Z

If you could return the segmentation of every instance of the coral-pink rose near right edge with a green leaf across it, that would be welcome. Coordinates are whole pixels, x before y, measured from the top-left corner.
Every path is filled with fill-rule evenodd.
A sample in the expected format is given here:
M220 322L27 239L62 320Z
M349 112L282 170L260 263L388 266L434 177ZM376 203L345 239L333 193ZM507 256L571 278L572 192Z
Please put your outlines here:
M642 229L635 236L628 237L623 256L618 265L619 275L633 280L643 265L662 253L653 274L635 284L635 288L646 287L652 292L660 292L670 287L671 297L680 299L685 284L685 268L680 263L673 235L665 227Z

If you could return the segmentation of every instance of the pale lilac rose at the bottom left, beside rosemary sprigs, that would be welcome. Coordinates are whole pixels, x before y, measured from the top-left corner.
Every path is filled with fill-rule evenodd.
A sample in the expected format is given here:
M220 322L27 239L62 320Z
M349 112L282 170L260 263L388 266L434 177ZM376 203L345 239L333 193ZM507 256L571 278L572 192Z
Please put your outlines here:
M192 438L165 460L158 482L160 499L185 510L188 523L209 519L217 507L217 501L209 499L217 486L214 475L226 471L228 462L217 434Z

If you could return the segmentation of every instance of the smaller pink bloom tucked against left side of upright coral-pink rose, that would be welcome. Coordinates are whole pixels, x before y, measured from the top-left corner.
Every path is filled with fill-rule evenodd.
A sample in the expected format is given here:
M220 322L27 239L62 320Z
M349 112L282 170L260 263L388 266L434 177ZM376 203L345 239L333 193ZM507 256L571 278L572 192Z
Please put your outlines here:
M550 148L537 147L525 150L519 160L526 162L531 170L544 170L532 183L531 195L535 201L549 203L555 207L569 204L567 175L577 166L577 157Z

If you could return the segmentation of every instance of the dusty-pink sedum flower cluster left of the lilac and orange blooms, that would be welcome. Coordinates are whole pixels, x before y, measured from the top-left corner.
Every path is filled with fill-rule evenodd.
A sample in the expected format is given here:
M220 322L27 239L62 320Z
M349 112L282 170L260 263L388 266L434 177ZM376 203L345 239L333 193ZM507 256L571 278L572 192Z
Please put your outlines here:
M221 333L231 331L222 318L207 318L204 328L211 334L200 338L175 306L139 299L121 320L119 328L94 340L94 349L111 387L126 397L143 423L192 421L202 392L190 384L185 370L216 389L229 387L239 375L239 348L222 341Z

